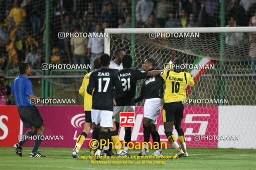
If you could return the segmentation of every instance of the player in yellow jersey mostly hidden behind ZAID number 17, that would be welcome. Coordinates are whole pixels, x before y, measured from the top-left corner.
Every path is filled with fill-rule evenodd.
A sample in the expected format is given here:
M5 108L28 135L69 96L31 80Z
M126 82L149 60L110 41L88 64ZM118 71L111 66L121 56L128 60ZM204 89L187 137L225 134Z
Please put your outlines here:
M99 57L96 57L93 60L93 64L95 69L100 68L100 59ZM73 158L78 157L78 152L80 150L80 147L82 146L85 138L90 133L91 127L92 127L92 121L91 121L91 106L92 106L92 96L87 93L86 88L89 84L89 79L92 71L85 74L83 78L82 85L79 89L79 94L81 94L84 97L84 112L85 112L85 123L84 123L84 130L83 132L78 136L76 141L76 146L72 151ZM93 123L93 130L92 130L92 139L99 139L100 136L100 126ZM93 143L94 144L94 143ZM91 150L90 155L94 155L95 150Z

